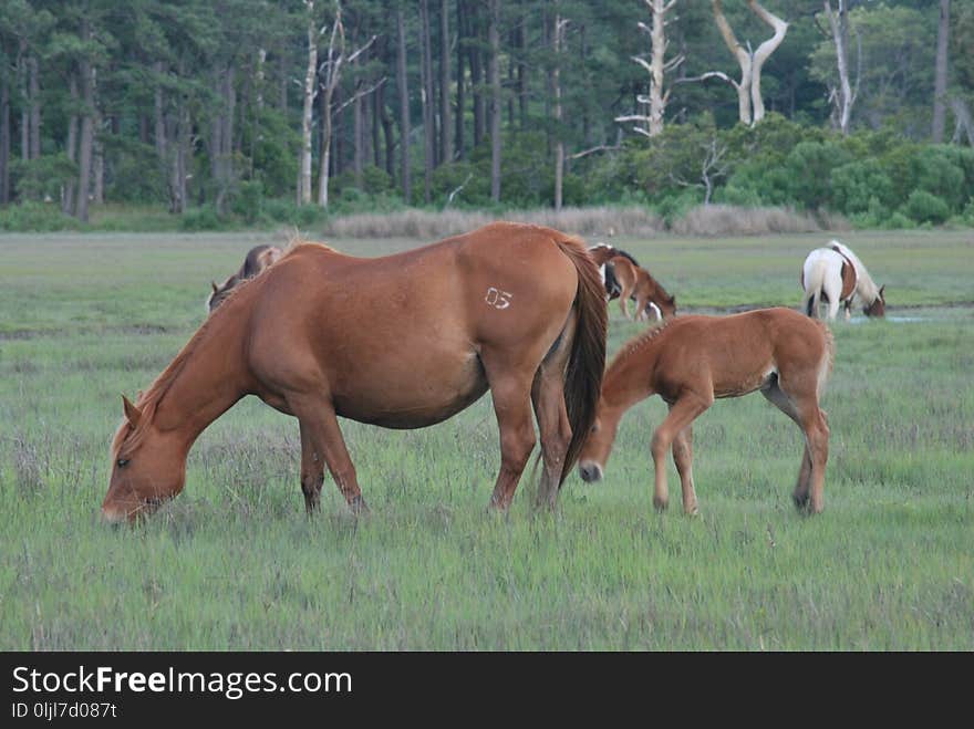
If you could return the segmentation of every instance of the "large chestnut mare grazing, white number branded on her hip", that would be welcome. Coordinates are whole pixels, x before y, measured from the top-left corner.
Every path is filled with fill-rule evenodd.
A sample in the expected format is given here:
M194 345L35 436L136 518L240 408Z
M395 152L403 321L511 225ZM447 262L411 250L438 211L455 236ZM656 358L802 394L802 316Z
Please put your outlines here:
M491 506L508 507L535 447L532 406L539 500L553 504L595 416L605 329L592 259L549 228L498 222L377 259L299 244L238 285L137 403L123 397L102 512L134 520L179 493L190 446L245 395L298 418L308 511L325 466L360 511L336 416L421 428L488 388L500 429Z

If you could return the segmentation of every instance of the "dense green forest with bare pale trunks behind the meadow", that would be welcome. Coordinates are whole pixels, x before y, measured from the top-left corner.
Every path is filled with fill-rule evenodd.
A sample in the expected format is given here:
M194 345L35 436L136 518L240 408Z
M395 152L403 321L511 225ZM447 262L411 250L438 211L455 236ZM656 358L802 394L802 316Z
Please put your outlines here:
M86 220L104 201L249 217L272 199L678 199L880 217L922 187L928 145L974 144L972 103L974 0L3 0L0 205ZM789 132L760 133L768 119ZM949 218L974 163L936 154L961 175ZM752 179L789 155L812 165L799 178L825 174L812 186L866 165L856 209ZM916 185L888 195L903 174Z

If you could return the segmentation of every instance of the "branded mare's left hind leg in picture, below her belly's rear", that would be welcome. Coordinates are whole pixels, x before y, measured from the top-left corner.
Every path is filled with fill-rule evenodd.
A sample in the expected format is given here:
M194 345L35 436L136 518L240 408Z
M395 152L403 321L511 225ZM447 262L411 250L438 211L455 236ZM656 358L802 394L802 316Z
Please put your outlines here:
M506 510L535 448L535 424L531 420L531 383L537 365L525 372L504 362L504 355L481 351L494 413L500 430L500 472L494 485L490 506ZM536 361L537 362L537 361Z

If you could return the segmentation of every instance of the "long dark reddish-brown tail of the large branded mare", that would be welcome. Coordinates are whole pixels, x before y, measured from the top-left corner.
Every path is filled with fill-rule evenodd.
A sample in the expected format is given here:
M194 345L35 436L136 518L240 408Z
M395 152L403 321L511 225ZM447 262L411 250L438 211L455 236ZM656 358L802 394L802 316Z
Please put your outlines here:
M578 293L574 299L578 323L571 342L571 356L564 373L564 405L571 425L571 441L564 455L559 486L571 472L579 451L595 421L595 408L602 390L605 372L605 332L609 327L609 310L605 289L599 268L580 242L567 239L557 241L578 272Z

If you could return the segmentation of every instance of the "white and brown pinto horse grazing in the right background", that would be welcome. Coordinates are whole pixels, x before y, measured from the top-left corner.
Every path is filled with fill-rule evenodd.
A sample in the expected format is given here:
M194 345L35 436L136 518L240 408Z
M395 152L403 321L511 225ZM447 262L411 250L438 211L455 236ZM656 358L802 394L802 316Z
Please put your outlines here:
M798 282L805 289L802 310L809 316L819 317L820 304L825 301L829 305L829 321L836 320L840 304L846 311L846 321L849 321L852 299L857 295L867 316L885 315L885 287L877 287L862 261L838 240L808 254Z

